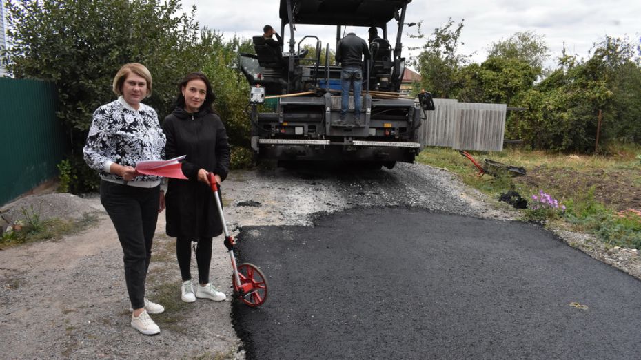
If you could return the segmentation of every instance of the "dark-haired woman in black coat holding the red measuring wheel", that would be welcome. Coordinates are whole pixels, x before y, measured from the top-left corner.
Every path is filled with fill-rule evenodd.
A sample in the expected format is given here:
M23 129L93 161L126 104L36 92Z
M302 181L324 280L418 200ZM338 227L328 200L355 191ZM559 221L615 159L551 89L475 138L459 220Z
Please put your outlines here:
M165 202L167 235L176 237L176 257L183 284L181 299L194 302L196 297L223 301L225 294L209 281L212 238L223 232L209 173L220 184L230 167L230 145L221 118L214 113L214 92L205 74L192 72L179 83L176 109L165 118L167 158L185 155L182 170L187 180L169 179ZM192 287L191 243L197 242L199 286Z

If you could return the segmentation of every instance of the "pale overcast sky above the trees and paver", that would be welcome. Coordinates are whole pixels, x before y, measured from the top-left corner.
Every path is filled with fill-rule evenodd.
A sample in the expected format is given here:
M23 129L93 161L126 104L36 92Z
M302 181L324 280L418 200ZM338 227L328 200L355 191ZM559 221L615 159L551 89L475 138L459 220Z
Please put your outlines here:
M272 24L278 31L278 0L183 0L188 10L196 5L196 19L202 25L221 30L225 36L234 34L250 39L261 34L263 25ZM223 5L224 3L224 5ZM639 44L641 36L641 1L638 0L498 0L498 1L431 1L414 0L407 7L405 21L423 21L424 34L431 34L451 17L455 23L462 19L464 27L460 41L460 54L475 53L472 58L482 62L487 56L491 43L507 39L515 32L533 31L544 36L551 60L565 44L570 54L586 58L594 42L607 34L613 37L629 36L630 41ZM367 39L365 28L349 28L360 37ZM389 29L396 34L396 25ZM388 31L389 31L388 30ZM325 32L325 36L322 36ZM405 28L405 33L416 34L415 28ZM329 42L334 47L336 30L333 28L298 27L296 41L305 35L314 34L323 40L323 48ZM394 41L390 41L394 46ZM404 46L420 46L425 41L403 36ZM416 54L416 52L414 52ZM409 54L404 49L404 56Z

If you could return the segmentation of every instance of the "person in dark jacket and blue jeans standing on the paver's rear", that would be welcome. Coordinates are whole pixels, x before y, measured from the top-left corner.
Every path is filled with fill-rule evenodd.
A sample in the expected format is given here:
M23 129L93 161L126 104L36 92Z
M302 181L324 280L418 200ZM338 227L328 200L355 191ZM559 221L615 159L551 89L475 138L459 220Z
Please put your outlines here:
M340 119L336 125L345 125L349 108L349 87L354 92L354 125L360 126L360 91L363 86L363 56L369 59L369 47L365 40L350 32L336 45L336 61L340 63Z

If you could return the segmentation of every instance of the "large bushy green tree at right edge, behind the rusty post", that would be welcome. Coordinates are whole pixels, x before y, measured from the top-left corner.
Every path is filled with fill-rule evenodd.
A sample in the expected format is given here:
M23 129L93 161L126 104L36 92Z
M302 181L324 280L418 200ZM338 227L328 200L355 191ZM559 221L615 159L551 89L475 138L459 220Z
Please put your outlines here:
M634 45L606 36L590 59L563 54L559 65L516 100L528 110L515 114L512 134L539 149L590 153L602 110L600 143L641 143L641 68Z

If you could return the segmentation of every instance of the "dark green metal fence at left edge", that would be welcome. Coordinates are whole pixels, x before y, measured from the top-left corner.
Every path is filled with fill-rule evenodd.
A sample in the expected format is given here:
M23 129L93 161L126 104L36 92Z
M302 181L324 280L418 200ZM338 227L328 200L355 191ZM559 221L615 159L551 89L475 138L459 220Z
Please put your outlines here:
M0 78L0 206L57 176L68 149L52 83Z

